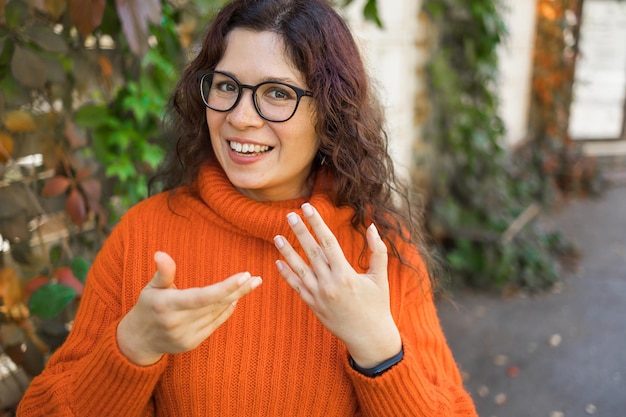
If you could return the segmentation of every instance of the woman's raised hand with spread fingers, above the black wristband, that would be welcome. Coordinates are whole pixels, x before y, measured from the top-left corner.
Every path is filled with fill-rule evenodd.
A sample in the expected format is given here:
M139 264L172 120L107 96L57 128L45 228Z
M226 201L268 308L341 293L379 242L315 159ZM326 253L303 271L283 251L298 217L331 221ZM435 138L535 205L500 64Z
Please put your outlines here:
M296 213L289 213L287 220L309 263L287 239L276 236L274 243L285 258L276 261L280 274L322 324L345 343L359 366L373 367L393 357L400 352L402 340L391 315L387 246L378 230L374 224L367 228L370 268L358 274L318 211L309 203L302 210L315 237Z

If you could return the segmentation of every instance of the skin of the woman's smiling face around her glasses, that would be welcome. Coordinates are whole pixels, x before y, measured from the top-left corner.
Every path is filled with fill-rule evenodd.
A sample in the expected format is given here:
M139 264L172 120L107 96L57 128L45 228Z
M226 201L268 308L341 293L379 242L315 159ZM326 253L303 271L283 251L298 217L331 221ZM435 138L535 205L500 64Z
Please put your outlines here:
M234 29L215 70L234 76L241 84L282 81L308 87L285 55L281 37L272 32ZM233 185L258 201L310 195L308 177L318 147L314 106L311 97L303 97L291 119L268 122L256 112L251 90L243 89L232 110L221 113L207 108L215 156Z

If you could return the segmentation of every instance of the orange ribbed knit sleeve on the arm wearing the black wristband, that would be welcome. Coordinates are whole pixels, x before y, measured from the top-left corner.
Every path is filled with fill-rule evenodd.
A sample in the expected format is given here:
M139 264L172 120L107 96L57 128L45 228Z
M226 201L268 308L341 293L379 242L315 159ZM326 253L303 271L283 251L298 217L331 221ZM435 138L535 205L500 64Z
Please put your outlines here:
M418 255L407 255L415 270L397 260L389 270L404 358L375 378L344 364L361 411L372 417L477 416L441 330L425 268Z

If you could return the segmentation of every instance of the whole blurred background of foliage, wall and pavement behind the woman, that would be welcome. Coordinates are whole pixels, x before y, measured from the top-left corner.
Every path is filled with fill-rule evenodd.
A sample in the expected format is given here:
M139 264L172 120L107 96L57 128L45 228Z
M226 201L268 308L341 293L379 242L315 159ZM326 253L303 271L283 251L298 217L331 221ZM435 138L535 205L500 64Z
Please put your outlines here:
M0 0L0 416L148 195L221 0ZM481 416L623 416L626 2L337 1L442 260Z

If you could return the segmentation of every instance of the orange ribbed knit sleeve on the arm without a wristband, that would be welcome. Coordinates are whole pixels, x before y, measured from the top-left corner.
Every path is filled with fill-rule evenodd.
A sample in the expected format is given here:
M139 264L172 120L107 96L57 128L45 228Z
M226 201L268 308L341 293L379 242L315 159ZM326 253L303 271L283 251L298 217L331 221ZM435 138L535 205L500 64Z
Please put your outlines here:
M19 405L20 417L154 414L151 397L167 357L152 366L139 367L118 349L118 266L122 259L118 235L116 229L99 253L87 278L79 320L46 370L31 382Z

